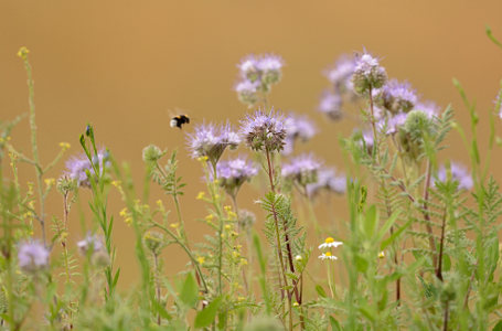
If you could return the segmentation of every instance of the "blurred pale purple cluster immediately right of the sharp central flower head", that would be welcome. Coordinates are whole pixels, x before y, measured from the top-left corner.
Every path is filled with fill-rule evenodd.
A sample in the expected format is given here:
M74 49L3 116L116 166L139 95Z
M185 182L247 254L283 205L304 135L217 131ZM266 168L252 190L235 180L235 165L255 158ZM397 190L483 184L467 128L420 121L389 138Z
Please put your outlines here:
M297 116L289 114L285 119L286 145L282 153L290 154L293 150L295 142L300 140L306 142L317 134L317 128L307 116Z

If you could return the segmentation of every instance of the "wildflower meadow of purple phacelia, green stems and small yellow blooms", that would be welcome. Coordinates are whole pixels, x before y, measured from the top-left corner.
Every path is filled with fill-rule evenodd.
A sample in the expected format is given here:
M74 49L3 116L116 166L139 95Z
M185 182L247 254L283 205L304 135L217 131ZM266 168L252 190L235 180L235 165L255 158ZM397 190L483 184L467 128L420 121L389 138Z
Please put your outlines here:
M2 329L502 330L502 195L489 173L501 146L500 89L483 114L453 79L463 106L442 109L388 77L369 52L342 56L325 71L331 87L319 110L332 126L356 119L352 135L338 137L343 169L321 161L331 148L324 156L297 150L318 134L316 113L273 107L284 61L249 55L237 65L235 90L247 111L238 129L202 122L183 128L188 148L145 147L138 191L130 167L97 148L92 125L79 135L82 154L49 177L70 145L41 163L29 54L18 53L28 74L31 151L10 137L23 116L0 122ZM469 130L455 121L453 106L467 108ZM480 145L481 120L489 121L488 146ZM467 166L445 153L455 135ZM192 183L179 174L185 152L203 178L196 196L185 195ZM21 182L24 168L33 182ZM150 196L152 184L164 195ZM246 185L250 203L239 193ZM61 213L45 209L49 197L58 199ZM346 214L320 217L332 199L346 201ZM260 211L243 207L249 204ZM83 209L82 232L70 235ZM133 235L127 260L136 259L139 278L130 287L117 259L118 220ZM195 222L205 228L199 243L186 229ZM175 276L174 252L186 261Z

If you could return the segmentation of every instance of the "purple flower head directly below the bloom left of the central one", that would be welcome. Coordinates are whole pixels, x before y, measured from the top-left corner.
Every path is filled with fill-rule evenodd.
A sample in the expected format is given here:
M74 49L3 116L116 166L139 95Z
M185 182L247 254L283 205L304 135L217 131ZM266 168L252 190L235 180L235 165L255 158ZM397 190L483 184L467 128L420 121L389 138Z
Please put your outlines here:
M235 196L244 184L258 173L258 169L245 158L221 161L216 166L218 183L225 192Z

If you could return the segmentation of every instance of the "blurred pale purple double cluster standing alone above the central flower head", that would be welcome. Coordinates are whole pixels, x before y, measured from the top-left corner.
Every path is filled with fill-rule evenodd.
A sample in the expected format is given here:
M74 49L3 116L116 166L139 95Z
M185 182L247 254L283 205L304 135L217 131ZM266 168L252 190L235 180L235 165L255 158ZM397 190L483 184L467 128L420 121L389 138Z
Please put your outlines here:
M235 85L238 99L254 106L282 76L284 61L274 54L248 55L237 65L241 81Z

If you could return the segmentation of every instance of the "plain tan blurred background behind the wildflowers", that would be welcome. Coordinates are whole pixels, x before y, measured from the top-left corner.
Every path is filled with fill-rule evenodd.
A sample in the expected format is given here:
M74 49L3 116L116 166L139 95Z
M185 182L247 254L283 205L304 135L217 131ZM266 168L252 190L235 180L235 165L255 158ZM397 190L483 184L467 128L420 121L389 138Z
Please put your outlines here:
M149 143L178 148L180 172L189 182L182 211L189 236L199 241L209 231L194 221L206 213L202 203L194 202L202 189L201 170L186 157L183 134L169 128L169 109L186 109L195 122L228 118L236 124L246 113L232 90L236 63L248 53L280 54L287 66L271 104L310 114L321 135L302 148L313 149L343 170L337 141L353 124L332 124L316 111L318 97L328 87L321 71L340 54L366 47L383 57L389 76L408 79L424 98L441 106L451 102L466 125L467 110L451 84L453 76L459 78L477 99L485 138L487 114L502 78L502 50L484 35L484 25L502 39L501 13L500 0L1 0L0 119L28 111L25 73L15 56L20 46L28 46L42 161L52 159L60 141L72 143L68 156L79 152L78 136L87 121L94 124L103 146L118 160L130 162L139 186L141 149ZM467 161L459 136L452 137L452 149L445 156ZM13 143L29 153L28 121L15 128ZM499 170L499 151L493 161L492 169ZM60 166L50 177L60 175L64 168ZM29 180L32 173L24 167L22 179ZM500 172L496 178L502 179ZM259 194L246 188L242 204L252 206ZM154 190L152 201L159 196ZM49 214L61 215L57 193L52 192L49 200ZM334 201L331 213L319 213L324 224L343 222L346 215L344 199ZM138 275L133 235L118 216L122 204L117 194L110 203L117 221L120 284L127 286ZM334 221L328 216L333 214ZM76 209L71 222L71 238L77 241L83 234ZM260 231L259 221L256 228ZM172 275L188 260L175 248L168 253L164 261Z

